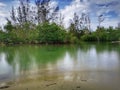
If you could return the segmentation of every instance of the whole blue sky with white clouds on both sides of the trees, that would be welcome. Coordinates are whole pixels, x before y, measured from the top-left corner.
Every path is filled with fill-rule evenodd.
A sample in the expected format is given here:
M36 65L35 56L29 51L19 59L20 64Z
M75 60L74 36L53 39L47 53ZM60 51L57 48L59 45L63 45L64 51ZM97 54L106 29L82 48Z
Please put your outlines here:
M34 0L31 0L33 3ZM87 13L91 19L91 29L98 26L98 16L103 15L105 20L101 23L104 27L118 26L120 22L120 0L54 0L59 5L60 13L64 16L64 26L67 28L74 13L81 15ZM17 0L0 0L0 26L6 23L12 6L17 6Z

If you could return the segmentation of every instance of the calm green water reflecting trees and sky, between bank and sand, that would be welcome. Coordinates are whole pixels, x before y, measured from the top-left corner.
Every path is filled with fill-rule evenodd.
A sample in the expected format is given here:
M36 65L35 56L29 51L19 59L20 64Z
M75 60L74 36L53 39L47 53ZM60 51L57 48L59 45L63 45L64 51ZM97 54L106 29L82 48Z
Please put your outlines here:
M0 82L55 76L118 89L119 44L24 45L0 47Z

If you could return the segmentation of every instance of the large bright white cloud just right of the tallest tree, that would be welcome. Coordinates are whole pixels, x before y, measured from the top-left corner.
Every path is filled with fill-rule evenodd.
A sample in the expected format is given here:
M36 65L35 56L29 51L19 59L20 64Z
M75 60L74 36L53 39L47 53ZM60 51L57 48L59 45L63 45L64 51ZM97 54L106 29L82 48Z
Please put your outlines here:
M74 0L70 5L63 8L60 12L65 17L65 27L67 28L69 26L69 21L73 18L74 13L81 14L82 12L88 12L88 6L88 3L80 2L80 0Z

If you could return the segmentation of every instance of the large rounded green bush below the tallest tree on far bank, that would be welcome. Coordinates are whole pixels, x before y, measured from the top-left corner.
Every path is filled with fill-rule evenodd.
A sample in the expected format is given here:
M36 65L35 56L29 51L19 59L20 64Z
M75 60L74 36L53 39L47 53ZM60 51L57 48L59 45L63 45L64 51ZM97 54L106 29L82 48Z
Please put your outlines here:
M65 43L66 31L55 23L44 23L37 27L41 43Z

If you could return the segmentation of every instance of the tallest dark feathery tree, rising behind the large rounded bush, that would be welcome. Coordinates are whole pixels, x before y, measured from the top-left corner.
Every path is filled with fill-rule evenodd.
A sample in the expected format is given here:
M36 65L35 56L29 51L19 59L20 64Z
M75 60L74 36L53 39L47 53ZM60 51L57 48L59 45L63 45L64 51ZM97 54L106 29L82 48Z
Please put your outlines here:
M55 17L55 14L59 10L59 7L56 6L52 8L50 6L50 1L51 0L35 0L38 23L49 22L50 20L54 21L53 16Z

